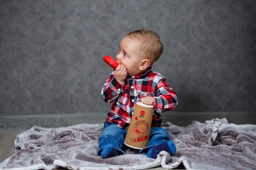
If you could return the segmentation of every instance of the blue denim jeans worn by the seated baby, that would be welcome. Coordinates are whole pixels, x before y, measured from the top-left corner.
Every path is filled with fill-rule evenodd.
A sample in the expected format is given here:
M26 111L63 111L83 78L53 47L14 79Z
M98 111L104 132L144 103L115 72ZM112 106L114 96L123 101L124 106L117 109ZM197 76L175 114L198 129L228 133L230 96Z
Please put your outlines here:
M100 155L104 146L112 144L117 150L119 155L124 155L128 147L124 144L124 139L126 137L126 128L119 128L116 123L109 123L105 121L104 129L99 136L99 149L97 155ZM148 146L139 151L139 154L147 155L148 149L163 144L169 141L170 137L168 132L161 127L152 127L150 130L150 138Z

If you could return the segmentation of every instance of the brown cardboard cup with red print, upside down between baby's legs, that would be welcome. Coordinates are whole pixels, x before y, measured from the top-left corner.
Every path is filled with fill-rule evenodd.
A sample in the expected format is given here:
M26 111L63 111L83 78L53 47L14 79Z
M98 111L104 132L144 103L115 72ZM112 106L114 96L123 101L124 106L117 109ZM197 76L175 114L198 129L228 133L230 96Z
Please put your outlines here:
M124 144L142 149L148 146L154 106L137 102L131 117Z

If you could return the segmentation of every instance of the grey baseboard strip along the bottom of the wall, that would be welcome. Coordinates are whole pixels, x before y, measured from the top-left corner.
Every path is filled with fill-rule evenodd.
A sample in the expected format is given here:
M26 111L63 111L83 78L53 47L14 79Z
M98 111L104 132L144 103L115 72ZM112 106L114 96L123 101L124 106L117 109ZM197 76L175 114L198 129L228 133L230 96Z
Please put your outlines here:
M188 126L193 121L205 122L227 118L229 123L256 124L256 112L168 112L161 114L165 122ZM0 130L27 130L32 126L45 128L66 127L76 124L103 124L107 113L63 113L44 115L0 115Z

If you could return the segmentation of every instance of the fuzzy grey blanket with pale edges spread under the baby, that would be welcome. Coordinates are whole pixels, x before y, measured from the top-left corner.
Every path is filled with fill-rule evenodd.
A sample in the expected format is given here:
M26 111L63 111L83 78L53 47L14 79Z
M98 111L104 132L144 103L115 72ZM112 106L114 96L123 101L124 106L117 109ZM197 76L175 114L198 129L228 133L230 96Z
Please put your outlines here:
M20 148L0 164L1 170L143 170L162 166L187 170L256 170L256 125L229 124L227 119L194 121L188 127L163 124L177 147L157 159L128 149L126 155L102 159L97 156L103 124L78 124L62 128L32 127L17 135Z

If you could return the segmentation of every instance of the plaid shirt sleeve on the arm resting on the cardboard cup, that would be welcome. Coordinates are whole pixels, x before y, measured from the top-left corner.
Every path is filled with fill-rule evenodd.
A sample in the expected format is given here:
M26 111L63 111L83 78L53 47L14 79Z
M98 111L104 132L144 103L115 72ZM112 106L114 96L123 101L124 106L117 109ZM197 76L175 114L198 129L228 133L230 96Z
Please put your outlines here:
M162 75L158 75L153 80L155 83L155 110L157 113L171 111L178 105L178 97L173 88L165 81Z

